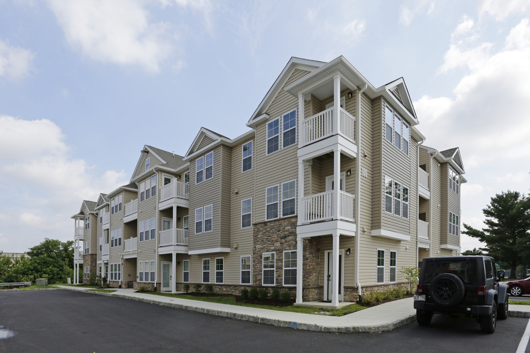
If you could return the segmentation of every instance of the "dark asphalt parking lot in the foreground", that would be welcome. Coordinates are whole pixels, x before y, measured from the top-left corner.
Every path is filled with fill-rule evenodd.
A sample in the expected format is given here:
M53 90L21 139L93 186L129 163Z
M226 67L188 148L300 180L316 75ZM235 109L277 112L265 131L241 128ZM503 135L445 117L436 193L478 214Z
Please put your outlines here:
M72 291L0 292L0 326L13 334L0 336L2 353L516 352L527 324L508 318L488 335L472 319L435 315L428 327L411 323L390 332L332 334Z

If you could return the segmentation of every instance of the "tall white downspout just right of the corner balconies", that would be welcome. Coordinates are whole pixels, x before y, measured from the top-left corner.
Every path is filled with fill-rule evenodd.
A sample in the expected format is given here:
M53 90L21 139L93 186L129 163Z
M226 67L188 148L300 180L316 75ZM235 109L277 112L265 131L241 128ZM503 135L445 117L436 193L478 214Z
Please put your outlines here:
M362 89L357 89L357 129L356 129L356 137L355 142L357 143L357 158L356 158L356 172L357 172L357 178L356 178L356 185L355 190L357 193L357 197L355 197L356 200L356 206L355 206L355 218L356 218L356 239L355 239L355 280L357 282L357 294L359 295L359 298L363 296L361 293L361 285L359 283L359 244L360 244L360 216L361 216L361 198L360 198L360 189L361 189L361 95L363 92L365 92L366 88L368 88L368 84L365 84L365 86Z

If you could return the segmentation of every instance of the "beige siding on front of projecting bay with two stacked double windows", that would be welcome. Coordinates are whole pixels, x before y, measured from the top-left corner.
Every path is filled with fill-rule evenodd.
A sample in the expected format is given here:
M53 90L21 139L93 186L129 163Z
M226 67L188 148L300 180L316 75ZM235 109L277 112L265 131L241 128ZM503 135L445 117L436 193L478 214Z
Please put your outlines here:
M210 151L206 151L204 157ZM189 209L189 250L202 250L219 248L221 246L220 230L220 206L221 206L221 165L222 165L222 147L218 146L214 150L213 177L204 180L202 183L195 184L195 159L190 160L190 209ZM195 210L199 207L213 205L212 231L195 234ZM203 214L204 219L204 214ZM191 264L190 264L191 265Z

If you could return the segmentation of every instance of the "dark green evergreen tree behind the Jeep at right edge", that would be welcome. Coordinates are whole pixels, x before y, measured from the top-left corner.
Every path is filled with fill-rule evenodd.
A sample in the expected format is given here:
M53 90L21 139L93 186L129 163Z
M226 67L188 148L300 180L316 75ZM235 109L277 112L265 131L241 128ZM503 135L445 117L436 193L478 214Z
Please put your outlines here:
M486 254L507 264L510 276L515 276L518 265L530 259L530 197L516 191L507 191L491 198L482 210L486 228L474 229L464 223L462 233L485 243Z

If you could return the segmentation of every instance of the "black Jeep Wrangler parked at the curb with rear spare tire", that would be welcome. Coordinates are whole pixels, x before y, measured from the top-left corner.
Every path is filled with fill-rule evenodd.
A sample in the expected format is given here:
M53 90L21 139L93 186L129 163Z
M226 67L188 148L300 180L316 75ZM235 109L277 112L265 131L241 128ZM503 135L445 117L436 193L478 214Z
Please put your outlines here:
M416 320L428 325L432 314L476 318L480 329L493 333L497 318L508 317L508 286L499 284L489 256L448 256L423 259L414 294Z

